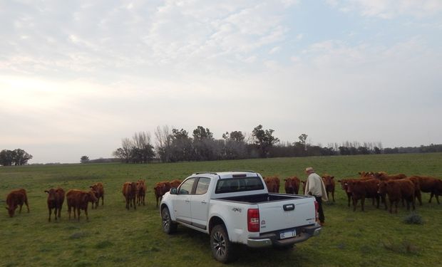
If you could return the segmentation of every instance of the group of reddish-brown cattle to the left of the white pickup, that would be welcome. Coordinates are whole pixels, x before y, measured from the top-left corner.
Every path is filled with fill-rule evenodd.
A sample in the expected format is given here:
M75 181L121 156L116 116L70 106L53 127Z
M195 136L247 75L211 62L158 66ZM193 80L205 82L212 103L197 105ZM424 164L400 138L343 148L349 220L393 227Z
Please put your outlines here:
M170 190L171 187L178 187L181 181L175 179L171 182L163 181L155 184L154 192L157 199L161 199L163 195ZM92 209L97 209L101 199L101 206L104 205L104 187L103 183L98 182L89 187L90 190L78 190L70 189L65 193L64 189L61 187L51 188L45 190L44 192L48 195L47 205L48 205L48 221L51 221L51 215L53 211L53 218L55 220L60 219L61 209L63 207L64 199L66 198L66 203L68 205L68 216L71 219L71 211L73 211L73 218L80 220L80 211L83 210L86 215L86 220L88 217L88 204L91 202ZM137 205L145 205L145 192L146 184L145 179L140 179L137 182L125 182L123 184L122 193L125 199L125 208L137 209ZM10 217L13 217L15 211L18 207L19 213L21 213L21 208L26 204L29 212L28 196L26 194L26 189L12 190L6 197L6 209Z

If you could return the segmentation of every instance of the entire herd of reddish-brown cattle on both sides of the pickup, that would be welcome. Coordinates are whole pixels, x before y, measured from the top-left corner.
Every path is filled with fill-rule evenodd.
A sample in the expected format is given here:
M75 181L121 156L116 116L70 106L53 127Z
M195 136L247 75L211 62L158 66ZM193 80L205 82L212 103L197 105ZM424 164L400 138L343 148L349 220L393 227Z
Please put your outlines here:
M334 199L335 179L329 174L322 176L324 185L327 191L327 197L332 195L332 201ZM272 193L279 193L279 177L265 177L264 182L267 185L267 189ZM353 203L353 210L356 211L358 202L361 203L361 210L364 211L365 199L372 199L372 204L379 208L380 204L384 204L384 208L389 212L397 213L399 202L405 206L407 210L410 206L415 209L416 199L419 204L422 205L421 193L430 193L430 200L436 197L439 202L439 195L442 195L442 180L435 177L423 177L423 176L411 176L407 177L405 174L389 175L386 172L359 172L359 177L349 179L339 179L337 182L341 184L341 188L346 193L348 206L350 202ZM155 184L153 192L155 193L156 206L158 208L158 200L161 200L166 192L170 191L172 187L178 187L181 181L175 179L173 181L163 181ZM305 182L301 181L298 177L287 177L284 179L284 189L286 194L299 194L299 187ZM305 189L302 190L303 194ZM53 210L53 217L55 220L61 217L61 209L66 197L68 204L68 216L71 219L71 211L73 211L73 218L80 220L80 211L83 209L86 214L86 220L88 220L88 203L91 202L92 209L96 209L101 199L101 206L104 205L104 187L101 182L91 185L89 191L83 191L78 189L70 189L68 192L58 187L45 190L48 195L48 221L51 221L51 214ZM136 209L136 206L145 205L145 192L146 184L144 179L140 179L137 182L125 182L123 184L122 193L125 198L125 208ZM387 200L389 202L389 208L387 206ZM17 207L20 207L19 213L23 205L29 212L28 197L25 189L17 189L9 192L6 197L6 209L9 216L14 216Z

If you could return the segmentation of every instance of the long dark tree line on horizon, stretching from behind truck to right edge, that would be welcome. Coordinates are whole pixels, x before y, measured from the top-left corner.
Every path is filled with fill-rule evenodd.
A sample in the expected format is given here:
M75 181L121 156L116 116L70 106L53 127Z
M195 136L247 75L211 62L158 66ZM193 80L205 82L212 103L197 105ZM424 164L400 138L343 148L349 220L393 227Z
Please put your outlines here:
M342 142L312 145L308 135L302 133L296 142L280 142L274 130L257 125L250 135L242 131L225 132L216 140L207 127L195 130L171 128L168 125L155 129L155 143L149 132L138 132L123 138L121 147L113 156L126 163L205 161L220 159L247 159L258 157L309 157L329 155L369 155L400 152L442 152L442 145L408 148L383 148L381 142Z

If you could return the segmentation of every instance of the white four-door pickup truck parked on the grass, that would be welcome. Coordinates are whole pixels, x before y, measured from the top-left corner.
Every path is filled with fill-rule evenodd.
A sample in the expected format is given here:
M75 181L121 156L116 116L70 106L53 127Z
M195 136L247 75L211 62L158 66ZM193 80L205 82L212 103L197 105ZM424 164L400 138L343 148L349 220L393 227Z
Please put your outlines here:
M314 197L269 194L261 174L251 171L197 172L170 189L160 204L163 231L178 224L210 234L212 255L236 258L236 244L292 246L317 236Z

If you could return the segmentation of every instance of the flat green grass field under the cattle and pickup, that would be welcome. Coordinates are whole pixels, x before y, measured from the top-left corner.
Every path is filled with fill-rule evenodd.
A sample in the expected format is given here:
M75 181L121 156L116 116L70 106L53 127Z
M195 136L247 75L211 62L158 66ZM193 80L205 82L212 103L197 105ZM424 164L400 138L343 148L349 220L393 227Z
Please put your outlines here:
M212 259L209 236L178 227L163 234L155 209L153 185L164 179L183 179L197 171L252 169L264 176L297 175L305 179L305 167L335 179L357 177L359 171L442 177L442 154L367 155L246 159L174 164L61 164L54 166L0 167L0 204L6 206L11 189L28 191L31 212L9 218L0 214L0 266L222 266ZM125 209L123 182L146 179L147 205ZM88 189L95 182L105 187L104 206L89 207L89 219L68 221L63 206L61 221L47 221L46 194L50 187ZM284 189L281 188L282 192ZM410 214L403 207L389 214L366 201L366 211L349 209L336 186L336 202L324 205L326 224L322 234L294 249L240 248L231 266L442 266L442 205L423 205L416 214L423 224L405 224ZM442 199L442 198L441 198Z

